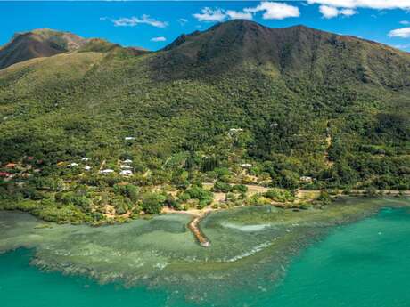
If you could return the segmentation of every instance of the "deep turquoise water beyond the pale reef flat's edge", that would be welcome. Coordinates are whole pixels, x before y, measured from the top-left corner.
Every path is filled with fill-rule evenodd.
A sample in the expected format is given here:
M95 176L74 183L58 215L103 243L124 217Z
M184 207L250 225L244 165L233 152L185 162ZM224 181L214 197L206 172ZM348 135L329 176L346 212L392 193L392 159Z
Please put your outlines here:
M44 272L29 265L33 250L0 255L2 307L402 307L410 306L410 213L383 208L359 222L332 228L326 237L294 257L280 281L243 274L257 287L225 284L224 300L208 294L191 299L182 281L169 286L122 287L99 285L91 279ZM268 276L277 263L266 263L253 274ZM201 285L215 279L201 280ZM215 295L215 298L213 296ZM188 297L188 299L186 299Z

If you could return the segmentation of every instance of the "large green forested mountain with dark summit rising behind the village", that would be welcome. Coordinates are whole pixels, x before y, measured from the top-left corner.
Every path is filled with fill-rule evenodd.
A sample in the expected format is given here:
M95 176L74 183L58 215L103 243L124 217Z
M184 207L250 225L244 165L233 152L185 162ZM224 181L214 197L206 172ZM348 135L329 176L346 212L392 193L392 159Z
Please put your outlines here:
M132 157L147 185L246 162L283 188L410 189L409 53L246 20L155 53L76 42L0 70L0 161L41 158L46 177Z

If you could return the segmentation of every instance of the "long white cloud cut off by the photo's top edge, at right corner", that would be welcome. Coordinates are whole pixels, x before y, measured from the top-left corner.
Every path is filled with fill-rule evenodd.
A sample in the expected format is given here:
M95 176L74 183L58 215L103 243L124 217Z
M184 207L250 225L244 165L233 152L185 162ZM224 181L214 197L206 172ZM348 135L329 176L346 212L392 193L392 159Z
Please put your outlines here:
M376 10L410 9L410 0L307 0L308 4L323 4L339 8Z

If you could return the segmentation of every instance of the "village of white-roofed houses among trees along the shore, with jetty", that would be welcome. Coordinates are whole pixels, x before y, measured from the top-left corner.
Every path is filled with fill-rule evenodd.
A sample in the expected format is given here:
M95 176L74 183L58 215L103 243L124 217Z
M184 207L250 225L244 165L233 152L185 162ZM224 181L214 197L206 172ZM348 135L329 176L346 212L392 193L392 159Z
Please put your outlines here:
M231 128L225 139L234 144L243 133L242 128ZM127 148L136 138L125 136L123 140ZM151 167L130 154L101 158L90 153L54 162L26 156L6 161L0 164L0 208L29 211L51 222L101 225L161 213L192 214L201 219L210 211L239 206L298 211L321 208L345 195L406 193L317 189L316 178L310 175L293 177L283 188L260 171L258 162L240 158L242 149L229 147L224 165L216 156L203 153L195 158L200 162L176 154ZM194 228L198 222L194 219L190 225ZM197 238L201 241L200 235Z

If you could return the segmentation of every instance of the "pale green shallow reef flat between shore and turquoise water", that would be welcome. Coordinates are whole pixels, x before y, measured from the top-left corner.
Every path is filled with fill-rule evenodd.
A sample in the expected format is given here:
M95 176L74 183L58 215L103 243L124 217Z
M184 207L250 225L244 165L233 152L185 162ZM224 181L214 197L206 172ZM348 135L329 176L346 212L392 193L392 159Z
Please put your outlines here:
M258 242L255 242L254 238L252 238L248 232L245 231L238 234L236 231L235 233L237 234L237 237L230 237L235 238L235 242L242 242L243 238L247 238L249 242L252 242L251 244L248 244L244 250L242 250L242 247L235 245L230 246L232 243L231 239L226 240L224 236L220 236L219 234L221 231L226 234L233 233L230 230L221 228L217 229L217 232L212 232L213 236L217 236L214 238L215 241L212 242L212 246L215 246L215 248L210 247L201 249L197 247L192 249L194 243L191 242L189 244L190 247L188 247L189 249L187 249L190 251L190 255L188 256L181 252L181 249L184 249L184 245L181 245L182 241L177 239L176 232L168 231L169 240L176 239L175 244L169 243L170 241L162 238L158 238L156 241L157 243L149 243L152 245L153 251L157 249L162 250L162 248L165 248L168 253L171 250L173 251L171 256L168 255L164 258L163 254L150 254L151 249L146 249L146 244L148 242L152 242L151 233L156 233L156 228L152 229L151 232L149 232L150 234L147 233L146 235L149 237L145 238L143 238L145 234L143 234L142 237L134 236L134 226L131 227L127 225L121 227L120 229L117 228L112 230L114 231L113 233L111 233L111 228L109 227L102 228L101 230L94 230L93 228L86 227L85 225L55 225L55 227L52 228L33 228L38 224L38 221L34 220L34 218L29 218L29 215L21 215L22 218L19 217L21 220L18 220L21 222L16 225L21 225L21 228L26 229L30 236L21 236L21 234L24 233L24 230L21 230L21 234L11 232L12 236L18 238L14 242L11 240L12 237L8 237L6 235L7 231L4 231L3 237L6 238L6 240L3 241L3 247L5 247L4 250L7 250L30 244L33 247L40 248L41 250L41 253L38 254L39 257L32 264L45 270L63 271L68 274L85 274L92 278L101 280L103 283L121 280L124 281L125 284L131 285L134 284L136 280L144 279L145 276L147 276L146 274L152 274L152 277L156 278L161 276L164 272L168 272L176 278L184 274L197 273L199 271L220 273L222 271L229 270L230 273L233 273L236 269L242 268L243 266L252 266L257 268L260 262L264 262L266 257L270 258L271 256L275 258L275 262L277 261L278 265L282 264L285 266L289 260L289 256L298 254L299 250L306 246L306 244L308 244L312 239L318 238L316 237L316 234L319 234L319 232L322 233L322 230L327 231L332 226L356 222L366 216L373 215L377 212L378 208L385 206L384 204L386 203L382 199L379 199L378 201L369 199L368 202L369 204L363 204L362 202L357 201L357 198L352 198L351 201L348 201L348 204L341 203L340 206L329 206L326 210L307 210L300 213L294 213L292 210L280 210L279 218L276 217L277 214L266 214L266 210L262 207L249 207L250 211L238 211L237 213L232 212L232 214L229 213L230 210L220 210L222 215L218 216L217 220L213 220L214 222L209 224L211 229L215 229L215 221L225 221L225 218L228 217L234 218L234 222L238 222L243 225L246 225L249 222L251 224L264 224L266 222L275 223L277 229L280 230L279 232L276 232L276 230L272 229L274 231L272 232L274 237L269 235L269 238L261 239ZM407 200L399 201L399 203L401 204L397 204L397 201L393 200L390 205L392 207L410 206ZM13 220L11 219L10 221ZM217 224L219 222L217 222ZM305 222L307 223L305 224ZM173 223L173 221L171 221L171 223ZM15 223L12 222L12 224ZM171 224L169 224L169 226L170 225ZM183 225L186 226L186 221L181 223L181 226ZM207 225L207 227L209 225ZM146 226L138 226L138 224L136 224L135 227L143 229ZM5 228L5 230L7 229L8 228ZM20 227L17 227L16 229L20 229ZM61 232L61 230L63 231ZM64 241L70 243L70 240L67 240L69 237L66 237L66 234L71 232L73 236L72 238L78 238L78 231L84 231L83 233L101 233L101 237L93 238L94 242L92 249L90 249L90 242L85 238L78 242L76 241L77 243L74 246L71 246L70 244L68 246L60 246L59 249L56 250L57 254L55 254L52 250L49 251L46 249L48 242L53 243ZM51 236L51 233L55 233L56 236ZM122 236L126 235L126 233L130 233L131 237L125 240L124 244L119 244L119 233L121 233ZM60 237L61 235L62 237ZM179 233L177 236L180 235L184 236L184 240L190 238L190 234L186 232L185 235ZM109 241L105 241L106 244L103 244L103 238L112 238L113 241L110 240L110 244L107 243ZM190 241L191 240L192 237ZM264 244L266 244L266 240L269 241L270 244L265 246ZM134 241L140 241L140 244L142 245L130 245L130 242ZM228 246L226 246L226 244L228 244ZM7 246L9 247L7 248ZM138 246L144 247L139 248ZM264 246L264 248L261 250L258 249L255 253L253 253L255 246ZM95 251L96 254L94 254L94 256L97 257L92 257L92 259L95 259L94 268L92 271L90 271L89 263L87 263L90 259L89 253L91 251ZM132 253L130 253L130 251L132 251ZM121 254L121 257L124 258L124 261L117 262L119 253ZM135 254L133 253L137 253L138 256L143 257L143 267L140 267L140 263L133 263L131 261L132 259L135 259ZM242 256L244 253L245 256ZM238 255L240 257L238 257ZM80 256L80 258L78 258L78 256ZM113 271L99 271L98 259L100 256L102 256L103 259L107 259L107 256L109 256L110 259L112 257L112 261L114 261L115 265L118 265L117 269ZM129 259L129 263L132 263L131 271L129 271L130 267L128 264L125 264L127 263L127 259ZM234 261L231 261L231 259L234 259ZM68 262L73 262L70 267L61 265L61 263ZM194 263L201 265L195 266L193 269ZM154 271L152 271L152 268L155 268Z

